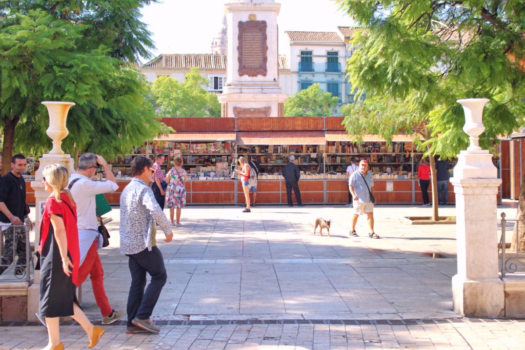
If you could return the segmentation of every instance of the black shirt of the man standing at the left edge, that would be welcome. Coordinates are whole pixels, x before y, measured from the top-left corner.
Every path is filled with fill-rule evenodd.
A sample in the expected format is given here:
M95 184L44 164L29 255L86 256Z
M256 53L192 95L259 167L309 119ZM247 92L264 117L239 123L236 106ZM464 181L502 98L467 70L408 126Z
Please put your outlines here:
M24 217L29 214L26 209L26 183L24 177L16 177L12 172L9 172L0 179L0 201L4 202L11 214L17 216L20 221L24 221ZM11 222L1 211L0 221Z

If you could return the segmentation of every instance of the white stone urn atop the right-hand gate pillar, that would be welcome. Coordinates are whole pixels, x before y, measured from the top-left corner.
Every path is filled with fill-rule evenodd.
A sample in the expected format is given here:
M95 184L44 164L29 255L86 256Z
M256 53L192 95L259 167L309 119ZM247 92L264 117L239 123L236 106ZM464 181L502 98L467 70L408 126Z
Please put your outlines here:
M463 131L470 137L470 145L467 151L481 151L479 146L479 135L485 131L482 123L483 108L489 99L461 99L456 102L463 106L465 112L465 125Z

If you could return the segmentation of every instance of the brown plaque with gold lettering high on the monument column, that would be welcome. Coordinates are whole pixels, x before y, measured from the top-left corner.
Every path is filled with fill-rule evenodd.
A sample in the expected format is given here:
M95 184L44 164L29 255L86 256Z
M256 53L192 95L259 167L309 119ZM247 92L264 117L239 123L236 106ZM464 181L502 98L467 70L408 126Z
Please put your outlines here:
M266 27L265 20L239 21L239 46L237 46L239 77L266 77L268 72L266 68L268 61Z

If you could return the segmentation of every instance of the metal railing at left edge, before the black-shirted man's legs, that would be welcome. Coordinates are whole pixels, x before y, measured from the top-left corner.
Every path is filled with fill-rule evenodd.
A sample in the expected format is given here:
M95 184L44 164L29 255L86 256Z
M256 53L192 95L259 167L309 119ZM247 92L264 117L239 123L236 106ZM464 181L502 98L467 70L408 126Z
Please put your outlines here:
M26 225L2 225L0 229L0 253L2 253L0 283L13 280L27 282L33 280L34 269L29 231L29 226Z

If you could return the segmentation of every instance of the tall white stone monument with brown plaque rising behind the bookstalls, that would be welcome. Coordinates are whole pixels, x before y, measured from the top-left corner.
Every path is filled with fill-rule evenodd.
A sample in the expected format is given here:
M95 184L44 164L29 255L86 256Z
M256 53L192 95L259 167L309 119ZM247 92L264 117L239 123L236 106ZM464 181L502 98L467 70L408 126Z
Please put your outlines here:
M228 21L226 84L218 99L224 117L282 116L275 0L225 4Z

